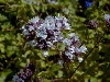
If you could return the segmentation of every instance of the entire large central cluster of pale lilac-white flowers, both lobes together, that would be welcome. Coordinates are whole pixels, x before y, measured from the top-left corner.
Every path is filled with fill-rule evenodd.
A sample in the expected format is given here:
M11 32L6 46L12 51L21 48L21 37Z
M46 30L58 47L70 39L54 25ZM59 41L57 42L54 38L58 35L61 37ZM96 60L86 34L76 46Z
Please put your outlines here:
M48 56L48 49L56 48L56 44L63 43L65 50L62 54L69 60L78 58L87 48L81 45L79 37L70 33L65 37L63 32L72 27L65 16L47 16L45 20L35 16L22 26L22 34L29 40L26 44L43 50L43 56Z

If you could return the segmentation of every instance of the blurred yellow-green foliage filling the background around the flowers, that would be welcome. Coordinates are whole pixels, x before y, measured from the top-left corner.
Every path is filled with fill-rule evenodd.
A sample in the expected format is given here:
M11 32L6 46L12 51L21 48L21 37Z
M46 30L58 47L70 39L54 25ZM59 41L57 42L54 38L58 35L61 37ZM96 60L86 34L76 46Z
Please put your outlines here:
M89 8L82 4L82 0L53 1L58 3L48 0L0 0L0 82L12 82L13 75L26 63L35 66L33 82L110 82L110 25L106 25L103 17L110 14L110 1L94 0ZM58 13L69 20L70 32L77 33L88 48L88 52L81 55L85 59L81 63L68 62L64 68L25 45L20 28L30 19L37 15L45 19ZM91 20L97 21L98 26L88 26Z

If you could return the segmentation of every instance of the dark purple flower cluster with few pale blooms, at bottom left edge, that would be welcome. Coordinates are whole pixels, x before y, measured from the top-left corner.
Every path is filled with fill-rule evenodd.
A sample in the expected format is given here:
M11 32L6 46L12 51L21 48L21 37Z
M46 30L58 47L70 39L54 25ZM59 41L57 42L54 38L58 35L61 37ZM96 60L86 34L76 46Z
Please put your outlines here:
M33 75L34 68L32 65L28 65L25 69L20 70L20 72L15 75L13 75L13 82L25 82L29 81L31 77Z

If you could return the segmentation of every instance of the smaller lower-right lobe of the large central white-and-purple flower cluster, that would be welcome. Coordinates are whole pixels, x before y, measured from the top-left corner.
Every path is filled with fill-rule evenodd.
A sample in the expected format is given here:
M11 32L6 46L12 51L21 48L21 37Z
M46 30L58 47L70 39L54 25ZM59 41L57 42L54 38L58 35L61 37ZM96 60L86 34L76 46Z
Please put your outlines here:
M78 57L86 52L87 48L85 45L80 46L81 43L79 40L79 37L75 33L68 34L70 38L65 38L63 43L66 45L65 55L68 57L68 59L74 59L75 57Z

